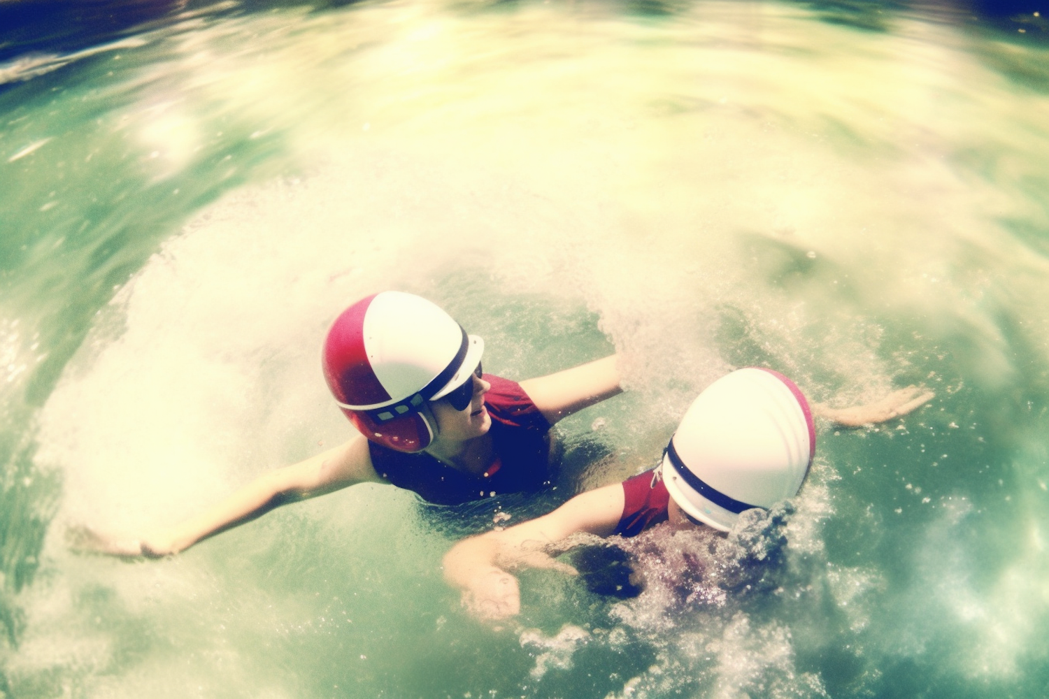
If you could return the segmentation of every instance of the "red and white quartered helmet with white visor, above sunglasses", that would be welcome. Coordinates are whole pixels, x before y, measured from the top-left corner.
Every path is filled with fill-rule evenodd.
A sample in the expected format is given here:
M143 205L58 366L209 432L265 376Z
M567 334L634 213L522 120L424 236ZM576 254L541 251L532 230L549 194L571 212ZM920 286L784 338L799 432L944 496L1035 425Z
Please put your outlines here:
M361 434L399 452L420 452L436 435L427 401L467 380L485 342L435 304L383 291L358 301L324 341L324 378Z

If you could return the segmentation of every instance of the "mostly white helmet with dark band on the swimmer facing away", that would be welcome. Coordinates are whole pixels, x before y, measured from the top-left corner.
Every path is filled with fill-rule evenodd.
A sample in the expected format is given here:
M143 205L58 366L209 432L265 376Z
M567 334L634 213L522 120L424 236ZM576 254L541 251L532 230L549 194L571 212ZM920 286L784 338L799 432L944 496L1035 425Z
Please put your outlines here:
M692 401L663 456L663 482L685 512L728 531L743 510L797 495L815 450L801 391L769 369L740 369Z

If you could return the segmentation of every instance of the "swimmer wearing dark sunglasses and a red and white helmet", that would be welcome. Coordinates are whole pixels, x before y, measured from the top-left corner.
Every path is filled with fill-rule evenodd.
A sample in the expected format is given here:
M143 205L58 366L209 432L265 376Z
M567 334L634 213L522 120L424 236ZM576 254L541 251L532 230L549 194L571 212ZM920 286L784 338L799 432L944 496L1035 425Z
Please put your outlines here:
M520 384L484 373L485 343L433 303L383 291L336 319L324 376L361 433L272 471L170 528L141 538L71 529L73 547L123 556L183 551L279 505L357 483L392 483L437 504L550 484L550 428L620 392L616 355Z

